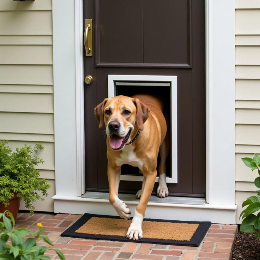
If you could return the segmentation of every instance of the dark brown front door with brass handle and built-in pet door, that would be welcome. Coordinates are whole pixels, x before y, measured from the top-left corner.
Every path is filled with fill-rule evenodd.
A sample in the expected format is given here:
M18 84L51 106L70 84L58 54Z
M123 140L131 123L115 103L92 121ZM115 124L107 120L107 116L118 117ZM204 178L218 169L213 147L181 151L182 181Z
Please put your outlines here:
M109 188L104 129L98 130L93 113L108 96L107 76L174 75L178 183L168 184L169 195L205 196L205 1L84 0L84 28L85 19L93 19L94 42L93 56L84 55L84 76L93 77L84 90L86 190ZM120 94L137 91L128 88ZM168 95L152 88L143 91ZM140 188L138 181L120 181L119 191L136 193Z

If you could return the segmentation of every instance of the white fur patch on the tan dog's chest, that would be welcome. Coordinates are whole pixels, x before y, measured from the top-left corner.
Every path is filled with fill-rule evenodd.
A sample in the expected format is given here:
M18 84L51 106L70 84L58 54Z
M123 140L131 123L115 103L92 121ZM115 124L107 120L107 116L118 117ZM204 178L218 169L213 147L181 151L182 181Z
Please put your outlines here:
M129 145L125 146L120 154L120 158L116 159L116 165L121 166L123 164L129 164L131 166L138 167L142 169L143 162L136 156L134 152L134 147Z

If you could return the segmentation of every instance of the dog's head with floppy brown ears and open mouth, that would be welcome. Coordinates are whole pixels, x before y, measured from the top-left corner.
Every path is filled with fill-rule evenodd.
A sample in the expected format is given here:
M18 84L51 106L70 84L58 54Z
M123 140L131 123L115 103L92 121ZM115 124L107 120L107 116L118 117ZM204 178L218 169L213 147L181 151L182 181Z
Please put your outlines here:
M121 150L129 140L135 127L144 129L150 109L139 99L128 96L114 96L104 99L95 107L94 113L99 121L99 129L105 123L107 136L113 150Z

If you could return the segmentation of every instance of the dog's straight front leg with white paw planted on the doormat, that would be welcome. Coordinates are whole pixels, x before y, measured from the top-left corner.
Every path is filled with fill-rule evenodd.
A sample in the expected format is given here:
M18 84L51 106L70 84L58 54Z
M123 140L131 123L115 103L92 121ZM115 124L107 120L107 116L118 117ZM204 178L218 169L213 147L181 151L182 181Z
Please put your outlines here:
M142 189L140 202L135 209L135 215L126 235L126 237L128 237L130 240L137 240L143 237L142 222L148 200L153 191L156 175L157 172L155 170L155 172L146 174L144 176L144 188Z

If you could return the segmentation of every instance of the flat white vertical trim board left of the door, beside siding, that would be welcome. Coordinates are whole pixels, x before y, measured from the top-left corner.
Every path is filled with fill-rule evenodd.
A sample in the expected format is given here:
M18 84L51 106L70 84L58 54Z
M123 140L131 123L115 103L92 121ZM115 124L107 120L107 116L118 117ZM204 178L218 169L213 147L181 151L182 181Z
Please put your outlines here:
M55 190L67 196L78 195L74 15L74 1L53 1Z

